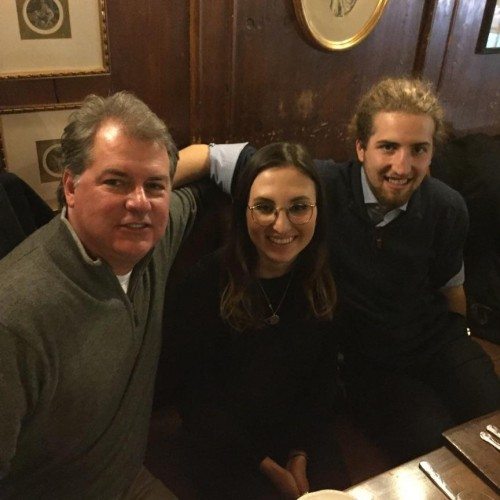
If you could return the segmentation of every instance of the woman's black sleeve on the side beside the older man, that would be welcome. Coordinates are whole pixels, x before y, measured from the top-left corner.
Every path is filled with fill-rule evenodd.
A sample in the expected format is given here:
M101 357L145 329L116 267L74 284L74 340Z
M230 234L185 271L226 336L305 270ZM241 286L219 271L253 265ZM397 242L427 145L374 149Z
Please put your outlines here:
M174 400L183 423L209 454L243 457L256 466L266 456L265 444L245 428L232 411L217 359L227 347L219 318L218 273L195 267L176 289L165 344L165 372L175 377ZM210 263L209 263L210 262Z

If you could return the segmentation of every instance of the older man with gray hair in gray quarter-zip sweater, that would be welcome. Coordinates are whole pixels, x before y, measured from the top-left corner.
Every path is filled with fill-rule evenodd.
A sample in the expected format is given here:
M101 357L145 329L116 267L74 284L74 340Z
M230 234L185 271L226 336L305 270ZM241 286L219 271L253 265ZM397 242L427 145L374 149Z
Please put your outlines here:
M125 92L89 96L62 149L61 215L0 262L0 497L175 498L142 461L165 282L200 193L172 192L177 148Z

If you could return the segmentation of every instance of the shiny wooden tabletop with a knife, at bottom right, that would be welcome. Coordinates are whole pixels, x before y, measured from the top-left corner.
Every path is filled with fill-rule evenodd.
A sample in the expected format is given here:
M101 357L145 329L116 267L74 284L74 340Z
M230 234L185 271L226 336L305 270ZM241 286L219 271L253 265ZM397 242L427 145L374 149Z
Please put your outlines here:
M480 491L491 498L500 498L474 471L446 447L439 448L411 462L363 481L346 492L358 500L441 500L446 496L419 469L418 463L427 460L443 477L451 490Z

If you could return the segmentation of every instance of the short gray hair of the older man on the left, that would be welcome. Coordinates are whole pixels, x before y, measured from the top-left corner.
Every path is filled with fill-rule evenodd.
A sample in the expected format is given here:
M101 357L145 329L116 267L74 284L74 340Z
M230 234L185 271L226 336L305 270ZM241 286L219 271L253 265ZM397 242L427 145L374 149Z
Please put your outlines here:
M71 114L61 138L63 169L75 176L83 173L93 160L96 133L107 121L118 122L134 139L164 146L170 163L170 178L174 177L179 153L167 126L144 102L126 91L109 97L91 94L81 108ZM58 199L61 206L66 203L62 185Z

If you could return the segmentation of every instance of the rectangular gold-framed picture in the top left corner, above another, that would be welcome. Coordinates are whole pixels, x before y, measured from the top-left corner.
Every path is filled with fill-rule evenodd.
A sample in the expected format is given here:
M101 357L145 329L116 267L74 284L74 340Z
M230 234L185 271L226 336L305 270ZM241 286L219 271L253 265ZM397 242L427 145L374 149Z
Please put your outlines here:
M0 79L108 72L105 0L2 2Z

